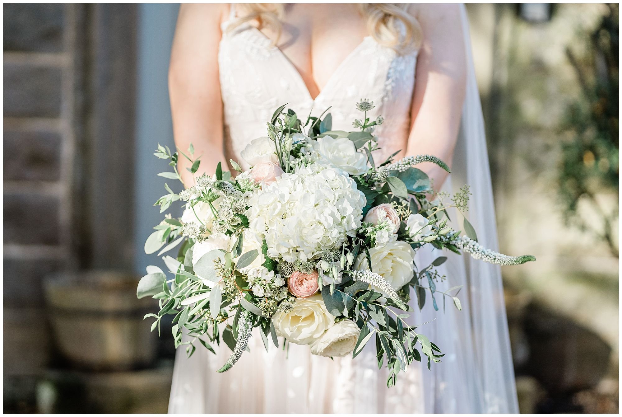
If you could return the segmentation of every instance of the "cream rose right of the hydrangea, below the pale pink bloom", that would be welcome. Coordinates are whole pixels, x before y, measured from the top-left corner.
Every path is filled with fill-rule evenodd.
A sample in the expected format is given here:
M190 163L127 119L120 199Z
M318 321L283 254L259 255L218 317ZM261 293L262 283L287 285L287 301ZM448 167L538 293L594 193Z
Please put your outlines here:
M415 251L404 241L390 241L384 246L369 248L369 256L371 270L383 276L393 289L402 288L414 275L412 262ZM364 254L358 257L354 268L369 269Z

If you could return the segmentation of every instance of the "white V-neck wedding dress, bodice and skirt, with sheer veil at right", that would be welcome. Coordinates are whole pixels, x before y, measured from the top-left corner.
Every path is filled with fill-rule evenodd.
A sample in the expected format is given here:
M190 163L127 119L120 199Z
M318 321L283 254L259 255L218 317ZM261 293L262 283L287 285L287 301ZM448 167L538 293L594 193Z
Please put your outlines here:
M360 98L376 105L368 113L371 118L385 119L374 132L383 148L376 159L384 161L405 147L416 53L400 56L365 37L313 100L294 65L262 32L250 24L225 30L233 13L223 24L218 54L227 158L244 164L239 152L252 139L266 135L266 121L280 105L289 103L303 120L310 112L318 116L332 106L333 129L349 131L351 122L360 117L355 109ZM453 172L443 188L471 185L469 219L480 242L496 250L490 171L464 7L462 14L469 76ZM451 215L453 220L459 218L457 213ZM386 370L378 369L373 340L354 360L332 360L295 344L289 344L287 351L271 345L266 352L261 337L254 334L250 352L225 373L216 373L231 352L224 343L215 346L217 355L198 345L190 358L181 347L169 412L518 413L500 269L437 250L419 250L415 263L424 267L440 255L449 259L439 268L447 280L437 288L464 288L462 311L448 299L443 312L437 294L439 311L429 300L421 312L415 307L412 314L412 324L422 324L418 331L445 353L431 370L426 363L414 362L406 373L399 373L396 386L387 388Z

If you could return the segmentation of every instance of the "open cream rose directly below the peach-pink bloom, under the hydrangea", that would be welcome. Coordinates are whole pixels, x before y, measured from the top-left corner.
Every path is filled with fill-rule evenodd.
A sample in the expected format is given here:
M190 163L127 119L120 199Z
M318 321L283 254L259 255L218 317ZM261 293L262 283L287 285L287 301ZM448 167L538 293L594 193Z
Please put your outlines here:
M279 311L272 316L276 334L297 345L309 345L335 324L320 294L297 298L289 312Z

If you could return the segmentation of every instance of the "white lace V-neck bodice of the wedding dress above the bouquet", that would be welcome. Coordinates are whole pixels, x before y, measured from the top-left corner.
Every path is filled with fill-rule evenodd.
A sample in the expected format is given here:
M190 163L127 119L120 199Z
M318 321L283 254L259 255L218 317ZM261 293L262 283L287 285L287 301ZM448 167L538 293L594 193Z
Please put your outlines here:
M406 148L416 52L398 55L373 37L364 37L313 100L297 68L266 35L248 23L226 30L230 22L223 23L218 51L227 158L239 161L246 144L266 136L266 122L280 105L289 103L301 119L309 113L319 116L331 106L332 128L349 131L361 117L355 108L361 98L376 105L369 117L384 117L375 131L382 148L376 158L384 161Z

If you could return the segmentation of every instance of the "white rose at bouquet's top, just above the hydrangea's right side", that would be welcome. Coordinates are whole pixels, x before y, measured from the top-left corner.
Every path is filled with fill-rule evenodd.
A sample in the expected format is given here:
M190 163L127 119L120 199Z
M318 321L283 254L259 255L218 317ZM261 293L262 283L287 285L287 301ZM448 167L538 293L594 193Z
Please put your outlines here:
M356 151L354 144L348 138L333 139L330 136L324 136L318 138L317 141L312 141L311 144L313 149L330 165L350 175L362 175L369 169L367 156Z

